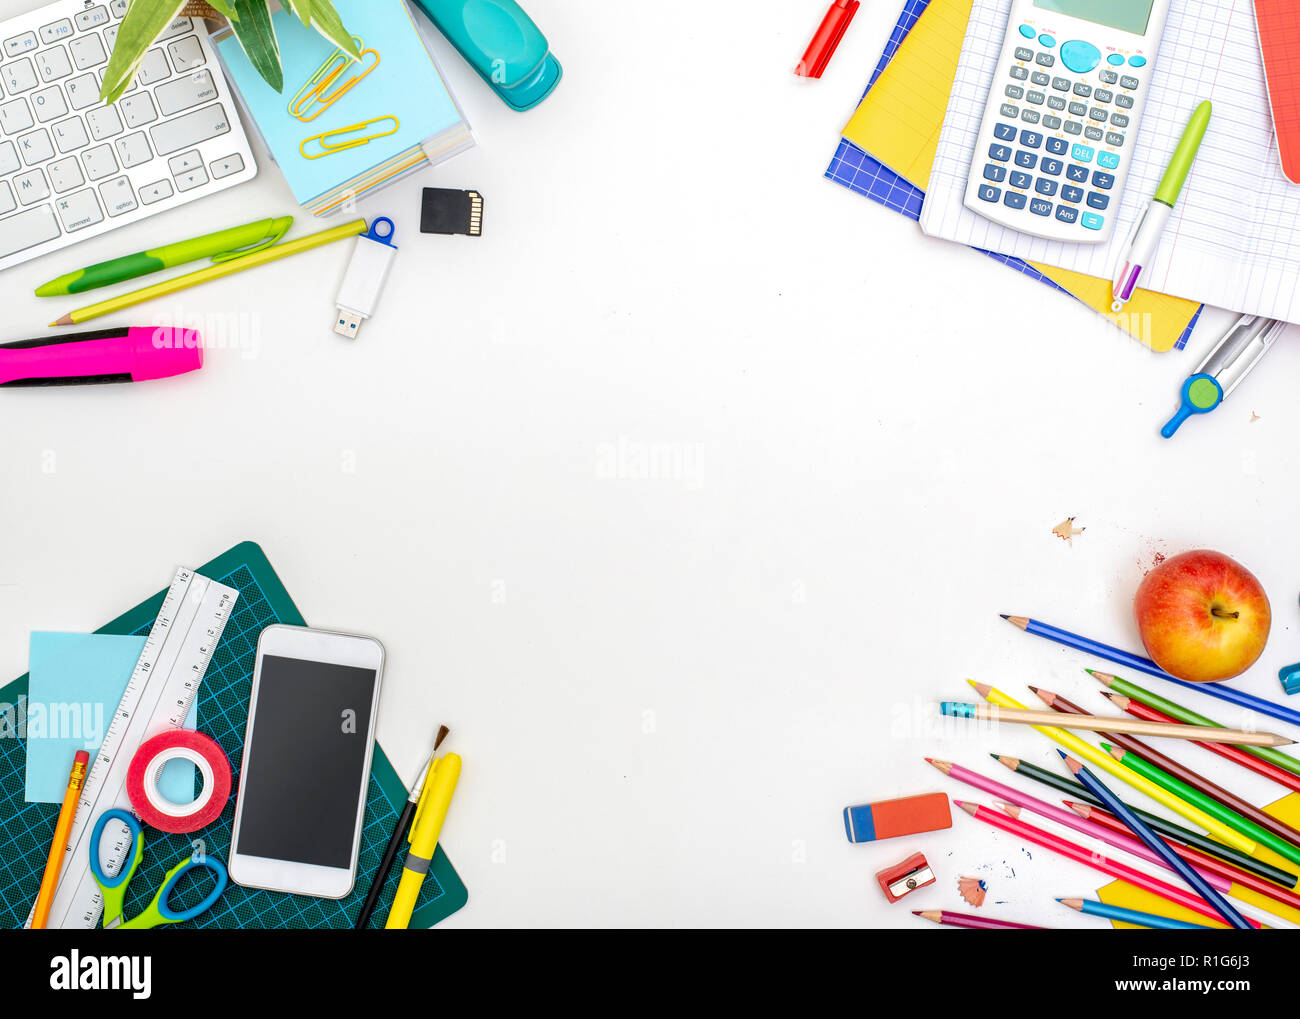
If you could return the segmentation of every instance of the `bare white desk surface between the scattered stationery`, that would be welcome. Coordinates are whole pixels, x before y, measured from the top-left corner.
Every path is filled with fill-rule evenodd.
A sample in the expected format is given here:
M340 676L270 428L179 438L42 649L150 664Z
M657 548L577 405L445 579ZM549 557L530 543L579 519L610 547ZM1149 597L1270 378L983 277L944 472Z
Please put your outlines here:
M913 925L962 907L959 873L998 915L1101 925L1052 902L1089 872L959 811L859 846L840 812L988 802L924 755L1013 782L984 751L1056 767L1035 732L976 738L935 704L974 699L971 676L1104 710L1095 662L997 613L1136 650L1157 551L1257 573L1275 624L1240 685L1280 695L1300 337L1161 439L1227 316L1152 355L823 179L898 4L863 4L801 81L824 6L529 0L566 74L525 114L439 39L478 146L363 204L400 255L355 342L330 331L338 244L95 324L198 326L224 347L199 374L0 398L0 675L26 669L30 630L94 629L255 539L311 624L384 641L378 737L403 776L452 729L443 845L469 905L447 927ZM425 186L481 191L482 238L421 235ZM263 159L238 190L10 269L5 338L68 308L31 296L57 273L292 211ZM939 885L889 906L872 875L915 850Z

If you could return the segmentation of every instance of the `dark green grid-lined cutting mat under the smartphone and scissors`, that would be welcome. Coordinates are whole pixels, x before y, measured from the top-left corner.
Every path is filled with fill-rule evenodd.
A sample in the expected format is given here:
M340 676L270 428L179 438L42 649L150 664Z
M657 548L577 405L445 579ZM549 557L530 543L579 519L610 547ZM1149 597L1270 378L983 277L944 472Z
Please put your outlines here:
M243 542L198 568L209 580L239 591L235 611L226 623L221 643L199 689L199 730L218 743L235 771L234 789L239 788L239 763L243 759L243 737L248 721L248 698L252 694L252 667L257 634L273 623L306 625L266 561L261 547ZM130 612L118 616L99 633L146 634L153 625L162 597L159 591ZM0 689L0 711L10 717L21 698L27 694L27 677L20 676ZM14 733L0 729L0 928L22 927L40 886L40 875L53 838L58 807L52 803L27 803L23 799L26 742ZM361 899L370 886L370 876L380 864L407 790L389 763L384 749L374 747L370 784L365 799L365 825L361 829L361 853L358 860L356 888L347 898L324 899L307 896L285 896L240 888L230 883L217 905L185 927L272 927L330 928L351 927L360 912ZM205 850L221 860L230 857L230 831L234 824L234 802L230 802L213 824L192 834L164 834L147 828L144 860L131 879L126 916L135 916L153 897L162 876L183 857L194 851L191 840L203 838ZM393 901L400 877L394 866L380 897L370 927L382 927L387 903ZM174 901L186 906L196 903L209 890L199 881L182 888ZM433 858L433 870L420 892L411 927L433 927L465 905L468 894L442 847Z

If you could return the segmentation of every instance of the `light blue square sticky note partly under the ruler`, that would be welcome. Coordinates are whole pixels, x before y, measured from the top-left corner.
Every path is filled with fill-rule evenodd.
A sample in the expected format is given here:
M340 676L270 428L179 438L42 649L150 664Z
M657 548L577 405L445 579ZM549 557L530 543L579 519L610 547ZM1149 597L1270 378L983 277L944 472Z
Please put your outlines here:
M61 803L78 750L91 755L104 741L109 720L135 663L143 637L108 633L32 633L25 712L29 803ZM188 728L198 724L198 698ZM194 799L194 766L173 760L159 777L159 789L177 803Z

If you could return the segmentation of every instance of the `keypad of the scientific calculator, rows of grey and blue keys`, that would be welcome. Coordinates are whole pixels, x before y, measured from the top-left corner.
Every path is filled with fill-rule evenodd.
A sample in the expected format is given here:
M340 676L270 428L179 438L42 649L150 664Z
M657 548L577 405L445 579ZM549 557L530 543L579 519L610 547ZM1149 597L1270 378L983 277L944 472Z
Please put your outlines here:
M1126 110L1143 86L1145 61L1118 53L1093 58L1086 43L1020 35L1030 44L1015 47L1015 62L994 84L1000 117L975 194L989 205L1098 231L1114 212L1131 123Z

